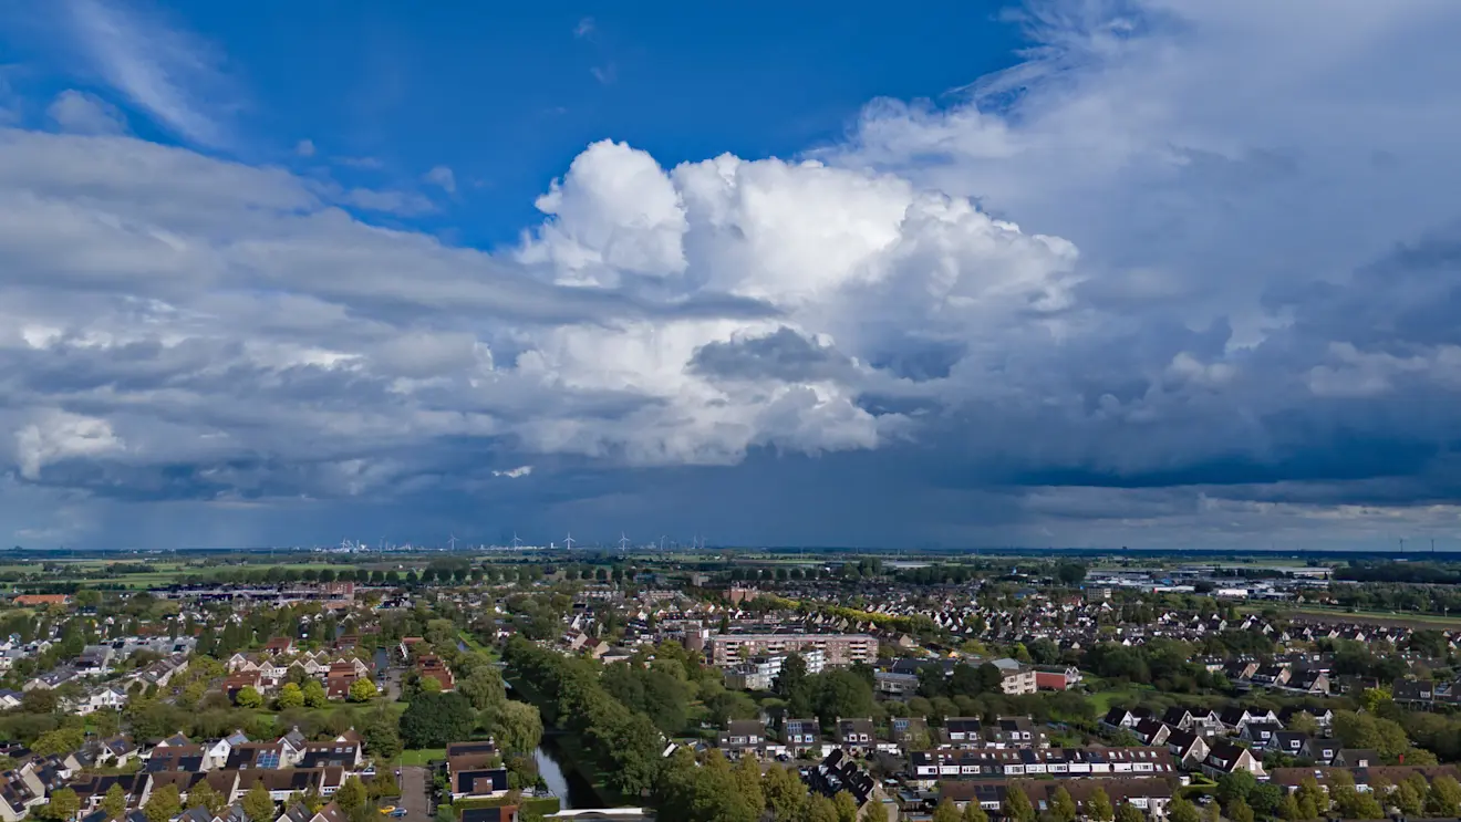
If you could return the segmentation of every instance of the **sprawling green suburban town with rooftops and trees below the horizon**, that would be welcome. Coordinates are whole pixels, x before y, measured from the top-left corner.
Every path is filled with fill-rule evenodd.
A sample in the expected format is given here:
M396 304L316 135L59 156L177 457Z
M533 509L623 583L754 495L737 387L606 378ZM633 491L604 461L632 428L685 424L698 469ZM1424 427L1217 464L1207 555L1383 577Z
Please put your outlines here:
M22 553L3 574L4 822L1461 813L1445 564Z

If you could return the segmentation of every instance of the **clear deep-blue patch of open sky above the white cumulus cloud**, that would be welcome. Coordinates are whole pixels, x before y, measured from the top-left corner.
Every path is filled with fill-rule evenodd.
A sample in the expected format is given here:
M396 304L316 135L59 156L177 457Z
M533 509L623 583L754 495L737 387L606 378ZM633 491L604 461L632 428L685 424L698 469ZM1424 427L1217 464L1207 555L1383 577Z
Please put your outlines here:
M516 241L535 219L533 199L595 140L625 140L668 165L725 152L798 156L842 140L869 99L948 102L970 77L1012 64L1020 47L998 3L934 3L920 15L885 3L516 6L115 10L139 35L186 34L209 64L178 77L184 89L196 83L196 105L218 123L209 150L300 169L356 161L330 172L371 187L413 187L450 168L454 196L413 222L475 245ZM64 12L10 15L6 45L25 67L12 80L20 93L110 91ZM134 101L115 102L136 115L139 136L188 142ZM314 146L311 158L297 155L301 140Z

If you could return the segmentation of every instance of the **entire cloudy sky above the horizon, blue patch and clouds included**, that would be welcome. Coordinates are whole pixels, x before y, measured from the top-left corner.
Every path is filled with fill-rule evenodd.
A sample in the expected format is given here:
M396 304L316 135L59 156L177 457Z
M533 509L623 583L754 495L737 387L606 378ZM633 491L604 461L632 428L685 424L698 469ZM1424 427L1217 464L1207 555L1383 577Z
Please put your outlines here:
M0 545L1461 549L1458 35L0 0Z

